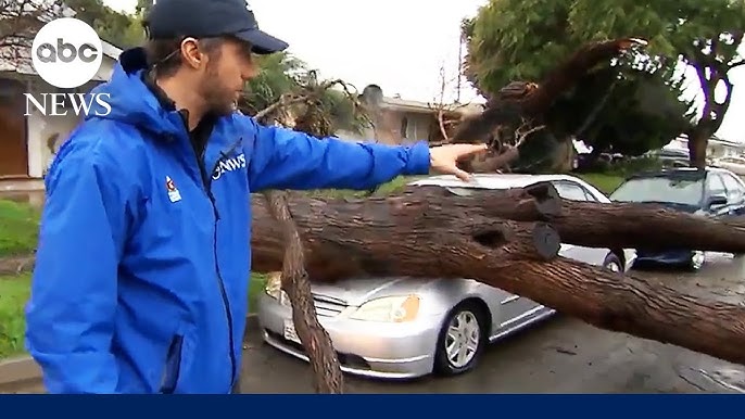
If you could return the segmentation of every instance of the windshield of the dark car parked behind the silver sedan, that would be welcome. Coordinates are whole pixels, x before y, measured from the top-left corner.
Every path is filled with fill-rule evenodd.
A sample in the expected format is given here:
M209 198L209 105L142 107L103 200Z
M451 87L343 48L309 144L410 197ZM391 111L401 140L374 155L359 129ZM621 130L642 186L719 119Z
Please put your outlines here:
M621 202L665 202L682 205L699 205L704 195L700 177L641 177L623 182L610 195Z

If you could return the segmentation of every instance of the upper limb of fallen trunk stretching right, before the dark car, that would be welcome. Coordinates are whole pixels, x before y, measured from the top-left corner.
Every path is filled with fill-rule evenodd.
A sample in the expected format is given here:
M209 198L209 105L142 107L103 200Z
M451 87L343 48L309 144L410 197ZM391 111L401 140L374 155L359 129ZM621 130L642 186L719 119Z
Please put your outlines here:
M409 187L412 195L450 195L441 187ZM745 253L745 218L704 217L659 204L566 201L548 183L528 189L470 190L470 214L515 220L544 220L565 243L588 247L700 250ZM530 201L535 200L533 204Z

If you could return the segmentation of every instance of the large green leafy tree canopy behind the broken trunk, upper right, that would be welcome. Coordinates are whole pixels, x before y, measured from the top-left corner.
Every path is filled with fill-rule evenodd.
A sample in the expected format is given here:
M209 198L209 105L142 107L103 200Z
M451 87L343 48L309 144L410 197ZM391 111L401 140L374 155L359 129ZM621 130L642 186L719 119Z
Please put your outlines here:
M512 80L540 80L585 42L644 38L649 40L647 54L609 62L557 101L550 117L552 131L577 135L597 151L630 155L658 148L680 134L699 138L704 132L700 142L719 127L731 97L730 85L725 103L714 104L710 87L727 85L727 71L741 62L736 46L745 28L744 4L742 0L490 0L463 23L468 48L465 73L489 98ZM693 102L680 99L683 81L691 81L680 77L681 63L695 67L705 80L702 92L711 112L703 118Z

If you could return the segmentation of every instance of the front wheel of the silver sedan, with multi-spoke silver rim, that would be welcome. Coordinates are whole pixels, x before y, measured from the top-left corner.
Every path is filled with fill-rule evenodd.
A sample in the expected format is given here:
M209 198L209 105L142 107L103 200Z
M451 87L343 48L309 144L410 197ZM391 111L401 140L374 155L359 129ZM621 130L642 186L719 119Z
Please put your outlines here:
M455 306L443 322L434 353L434 372L455 376L471 370L488 342L488 314L478 304Z

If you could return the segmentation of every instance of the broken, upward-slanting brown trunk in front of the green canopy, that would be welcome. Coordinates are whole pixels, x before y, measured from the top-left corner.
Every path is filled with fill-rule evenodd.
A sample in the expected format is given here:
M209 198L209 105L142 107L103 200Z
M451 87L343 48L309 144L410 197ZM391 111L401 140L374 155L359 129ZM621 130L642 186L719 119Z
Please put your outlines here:
M565 137L578 134L583 123L568 126L556 103L581 82L591 71L607 68L611 60L634 60L646 41L622 38L589 42L552 68L540 82L512 81L489 98L483 113L464 120L454 142L482 142L490 152L464 162L470 172L496 172L520 160L523 172L552 169L556 149ZM592 114L584 119L592 118ZM571 125L571 124L569 124ZM566 160L566 158L563 158Z

